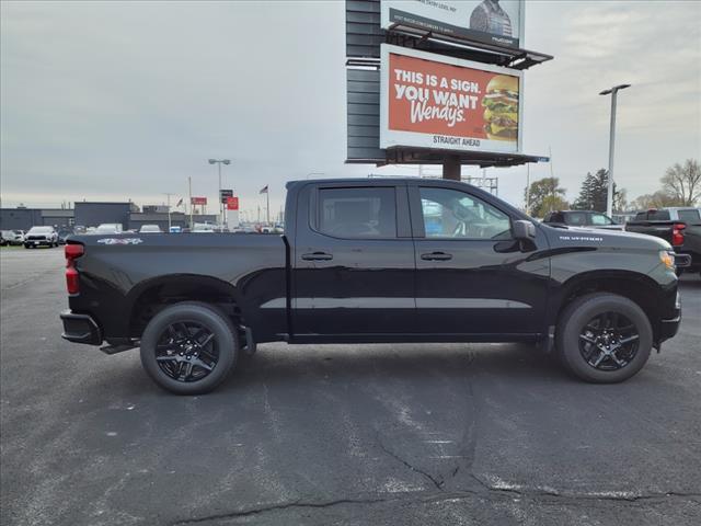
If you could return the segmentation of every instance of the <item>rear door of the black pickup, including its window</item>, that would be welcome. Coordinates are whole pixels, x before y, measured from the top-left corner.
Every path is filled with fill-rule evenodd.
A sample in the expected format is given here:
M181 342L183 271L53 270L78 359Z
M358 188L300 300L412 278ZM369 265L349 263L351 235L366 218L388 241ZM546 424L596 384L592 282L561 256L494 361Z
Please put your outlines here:
M297 203L296 338L415 331L414 242L405 185L329 183Z

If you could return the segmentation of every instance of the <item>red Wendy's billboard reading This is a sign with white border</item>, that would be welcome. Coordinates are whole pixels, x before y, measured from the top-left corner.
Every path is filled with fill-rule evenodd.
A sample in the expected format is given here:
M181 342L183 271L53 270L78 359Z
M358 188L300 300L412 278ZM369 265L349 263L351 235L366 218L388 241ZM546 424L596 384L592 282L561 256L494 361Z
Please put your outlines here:
M520 152L521 75L383 44L380 148Z

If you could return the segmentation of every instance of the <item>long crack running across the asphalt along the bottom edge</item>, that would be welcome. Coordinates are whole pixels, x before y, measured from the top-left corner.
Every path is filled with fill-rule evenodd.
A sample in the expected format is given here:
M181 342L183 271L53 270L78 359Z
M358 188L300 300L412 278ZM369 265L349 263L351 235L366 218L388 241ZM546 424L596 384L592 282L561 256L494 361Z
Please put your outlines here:
M392 455L389 453L389 455ZM401 461L401 459L400 459ZM421 471L420 471L421 472ZM425 473L423 473L425 474ZM479 478L476 480L480 480ZM624 502L624 503L634 503L639 501L664 501L667 499L701 499L701 493L694 492L679 492L679 491L669 491L669 492L660 492L660 493L647 493L647 494L637 494L637 495L627 495L627 494L607 494L607 493L567 493L560 492L558 490L529 490L529 489L514 489L514 488L498 488L498 487L490 487L485 482L481 482L483 488L486 488L487 491L472 491L472 490L463 490L458 492L447 493L440 490L440 493L430 493L425 492L423 495L417 492L405 492L406 494L411 494L411 496L378 496L378 498L364 498L364 499L336 499L332 501L291 501L291 502L283 502L278 504L271 504L261 507L253 507L249 510L240 510L230 513L222 513L217 515L208 515L204 517L189 518L183 521L176 521L171 523L172 526L185 526L188 524L199 524L206 523L209 521L226 521L230 518L238 517L246 517L251 515L257 515L268 512L275 511L284 511L284 510L292 510L292 508L325 508L333 507L343 504L379 504L379 503L391 503L391 502L402 502L402 501L417 501L423 503L435 503L441 501L450 501L450 500L459 500L459 499L468 499L468 498L481 498L481 499L493 499L493 498L504 498L507 495L516 494L520 498L527 498L532 500L539 500L541 498L554 498L553 500L558 502L572 502L576 503L577 501L609 501L609 502ZM622 492L621 492L622 493Z

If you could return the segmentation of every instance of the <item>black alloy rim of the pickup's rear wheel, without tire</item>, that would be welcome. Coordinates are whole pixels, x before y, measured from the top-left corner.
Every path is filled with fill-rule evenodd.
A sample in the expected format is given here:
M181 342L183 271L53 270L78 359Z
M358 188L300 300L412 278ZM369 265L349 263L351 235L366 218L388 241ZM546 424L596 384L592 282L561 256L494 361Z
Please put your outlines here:
M158 340L156 361L161 370L174 380L202 380L219 362L215 333L197 321L171 323Z

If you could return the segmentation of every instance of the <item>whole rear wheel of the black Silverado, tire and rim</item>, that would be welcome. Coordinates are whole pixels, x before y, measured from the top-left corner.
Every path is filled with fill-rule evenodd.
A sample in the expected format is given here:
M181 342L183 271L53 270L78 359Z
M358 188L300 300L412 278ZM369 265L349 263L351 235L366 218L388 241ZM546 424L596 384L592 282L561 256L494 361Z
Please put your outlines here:
M175 333L172 332L173 330L169 330L169 325L173 324L176 324ZM193 362L185 362L185 358L191 359L188 357L189 351L186 350L188 346L171 342L183 341L191 336L195 340L197 331L200 330L198 327L209 331L212 336L211 343L196 347L193 351ZM189 331L189 334L183 339L185 330ZM176 338L176 335L181 338ZM172 346L173 351L163 351L163 347L166 346ZM170 392L204 395L227 379L237 364L239 350L238 334L223 312L199 301L184 301L163 309L146 327L141 335L141 365L156 384ZM183 356L183 353L186 354ZM157 355L160 359L157 359ZM208 357L216 357L216 363L209 361ZM197 363L203 363L202 361L205 361L205 365L211 366L211 370L207 371L204 367L197 366ZM206 363L207 361L209 364ZM206 374L206 376L183 379L184 373L181 374L180 370L184 367L187 371L188 365L189 371L194 376L200 374ZM180 375L180 378L175 378L174 375Z

